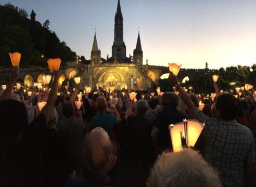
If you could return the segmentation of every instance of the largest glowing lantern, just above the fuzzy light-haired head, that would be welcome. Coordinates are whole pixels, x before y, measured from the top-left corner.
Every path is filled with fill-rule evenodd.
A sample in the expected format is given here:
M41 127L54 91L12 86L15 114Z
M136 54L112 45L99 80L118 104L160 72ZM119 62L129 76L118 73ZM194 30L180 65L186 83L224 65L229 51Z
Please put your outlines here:
M188 147L195 146L196 141L203 129L203 124L196 120L185 120L175 125L170 125L173 152L182 151L182 138L186 139Z

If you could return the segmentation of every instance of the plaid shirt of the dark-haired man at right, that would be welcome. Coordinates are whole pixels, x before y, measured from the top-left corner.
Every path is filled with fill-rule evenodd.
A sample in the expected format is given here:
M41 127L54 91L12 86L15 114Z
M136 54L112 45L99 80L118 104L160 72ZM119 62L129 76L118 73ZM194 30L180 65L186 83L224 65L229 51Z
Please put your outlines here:
M236 120L218 121L202 111L197 111L196 117L205 123L206 161L220 172L223 186L242 186L244 164L255 163L251 130Z

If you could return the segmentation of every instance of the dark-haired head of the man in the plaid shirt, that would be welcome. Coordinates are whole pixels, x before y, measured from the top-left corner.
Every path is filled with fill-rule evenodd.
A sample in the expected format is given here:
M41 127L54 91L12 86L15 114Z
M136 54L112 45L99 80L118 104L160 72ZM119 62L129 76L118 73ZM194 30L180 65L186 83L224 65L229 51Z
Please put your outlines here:
M224 121L232 121L238 115L239 101L231 93L216 97L216 116Z

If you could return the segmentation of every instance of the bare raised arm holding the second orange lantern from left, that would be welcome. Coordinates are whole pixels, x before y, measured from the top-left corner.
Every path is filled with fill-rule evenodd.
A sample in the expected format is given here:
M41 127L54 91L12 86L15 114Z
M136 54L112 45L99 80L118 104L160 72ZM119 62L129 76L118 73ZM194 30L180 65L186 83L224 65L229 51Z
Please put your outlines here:
M48 124L50 116L52 115L53 110L54 110L54 105L56 102L57 92L58 92L58 81L59 81L60 75L61 75L61 70L58 70L54 73L55 78L54 78L54 82L53 82L53 87L52 87L52 89L50 89L48 102L46 103L46 105L44 106L44 108L41 111L41 113L46 118L46 124Z

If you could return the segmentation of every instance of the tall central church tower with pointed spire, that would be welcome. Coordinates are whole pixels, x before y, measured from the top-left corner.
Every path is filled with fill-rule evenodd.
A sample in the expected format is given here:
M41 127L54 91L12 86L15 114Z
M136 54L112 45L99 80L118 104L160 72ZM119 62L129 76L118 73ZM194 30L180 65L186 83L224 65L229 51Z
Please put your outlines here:
M126 46L123 41L123 15L121 12L120 0L118 0L117 12L114 17L114 43L112 46L112 58L119 61L126 59Z

